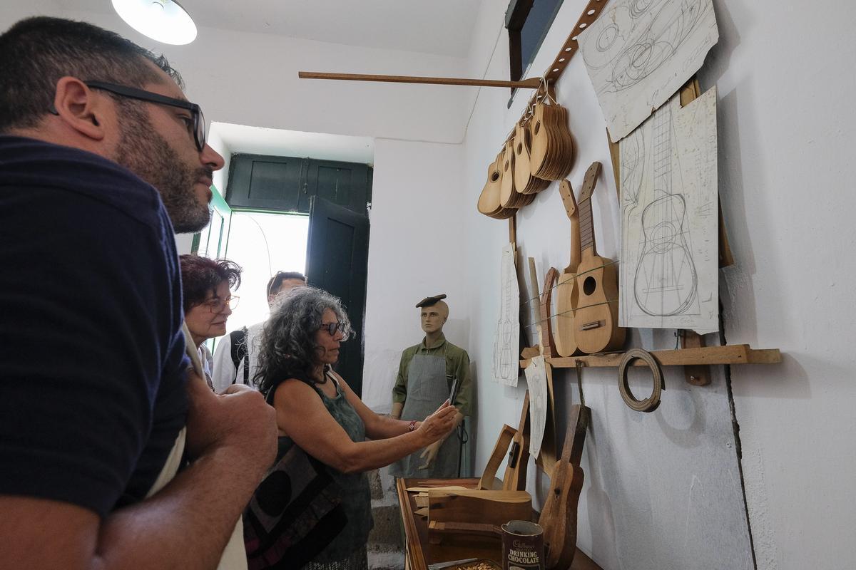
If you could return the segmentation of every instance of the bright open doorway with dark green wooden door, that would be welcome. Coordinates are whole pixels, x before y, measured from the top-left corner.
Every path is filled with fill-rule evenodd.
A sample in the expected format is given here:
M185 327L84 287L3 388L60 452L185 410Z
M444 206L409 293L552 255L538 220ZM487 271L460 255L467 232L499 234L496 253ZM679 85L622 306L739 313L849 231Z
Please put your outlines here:
M212 223L199 241L221 249L199 251L244 268L229 330L266 319L270 275L300 271L309 285L342 299L355 334L336 368L360 394L374 141L212 123L209 142L225 159L214 176L223 200L212 202L223 226Z

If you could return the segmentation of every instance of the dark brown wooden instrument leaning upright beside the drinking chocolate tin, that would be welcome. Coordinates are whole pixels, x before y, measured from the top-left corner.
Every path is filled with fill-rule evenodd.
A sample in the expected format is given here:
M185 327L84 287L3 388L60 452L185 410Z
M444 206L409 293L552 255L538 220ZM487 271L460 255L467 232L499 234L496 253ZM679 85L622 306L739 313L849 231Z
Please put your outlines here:
M574 404L568 415L568 432L562 446L562 459L556 462L550 476L550 492L538 518L544 527L544 545L548 546L544 567L568 570L577 549L577 505L583 488L584 473L580 467L589 408Z

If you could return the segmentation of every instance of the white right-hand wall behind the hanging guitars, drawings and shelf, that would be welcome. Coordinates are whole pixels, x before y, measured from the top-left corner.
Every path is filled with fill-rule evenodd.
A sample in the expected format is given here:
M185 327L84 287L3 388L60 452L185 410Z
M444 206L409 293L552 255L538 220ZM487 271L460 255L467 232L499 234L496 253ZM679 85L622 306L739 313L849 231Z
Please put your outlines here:
M534 69L550 64L584 5L565 1ZM480 26L489 29L474 32L481 47L473 46L471 73L506 73L506 39L491 50L499 25L491 16L505 6L484 4ZM856 273L849 259L856 200L847 186L856 174L848 140L856 114L847 104L856 86L856 9L841 5L830 17L808 3L715 0L715 7L722 38L700 81L719 90L720 191L737 260L723 272L725 335L729 344L778 347L785 357L779 366L730 370L742 461L722 368L704 388L667 371L663 404L645 415L621 402L615 371L586 371L593 420L580 548L604 568L751 568L751 528L758 568L856 567L856 358L848 346L856 303L846 285ZM603 116L579 59L557 91L579 144L574 188L591 161L604 164L594 200L597 245L615 257L620 227ZM522 379L517 389L490 382L499 250L508 230L473 212L486 167L520 116L521 101L507 111L507 98L504 90L479 93L464 150L469 344L484 371L479 410L490 410L476 421L477 471L498 424L516 425L525 390ZM567 265L568 222L556 185L518 221L520 261L534 256L539 277L550 265ZM716 336L707 341L715 344ZM642 332L630 342L657 349L675 341L669 332ZM575 374L556 375L556 397L562 416L579 399ZM563 432L563 417L559 425ZM538 498L543 484L529 486Z

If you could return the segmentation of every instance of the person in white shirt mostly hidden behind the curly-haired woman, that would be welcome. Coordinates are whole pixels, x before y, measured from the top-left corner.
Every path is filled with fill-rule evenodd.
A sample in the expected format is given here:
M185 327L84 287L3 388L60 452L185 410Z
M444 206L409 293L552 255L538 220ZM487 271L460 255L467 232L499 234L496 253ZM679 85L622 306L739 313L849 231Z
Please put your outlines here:
M274 308L276 299L294 287L306 285L306 276L299 271L277 271L268 279L265 293L268 297L268 307ZM253 377L258 368L256 355L259 353L259 336L265 328L265 321L253 326L244 326L237 331L229 332L220 339L214 349L211 382L217 393L226 391L235 384L255 388Z

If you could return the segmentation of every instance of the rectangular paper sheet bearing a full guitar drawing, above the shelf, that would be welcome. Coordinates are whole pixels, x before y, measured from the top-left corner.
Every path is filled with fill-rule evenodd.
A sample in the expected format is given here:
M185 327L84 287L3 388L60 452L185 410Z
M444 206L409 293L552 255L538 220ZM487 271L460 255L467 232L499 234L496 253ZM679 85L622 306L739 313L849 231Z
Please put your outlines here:
M716 88L619 144L619 324L719 330Z

